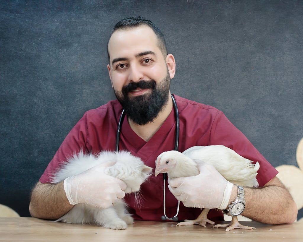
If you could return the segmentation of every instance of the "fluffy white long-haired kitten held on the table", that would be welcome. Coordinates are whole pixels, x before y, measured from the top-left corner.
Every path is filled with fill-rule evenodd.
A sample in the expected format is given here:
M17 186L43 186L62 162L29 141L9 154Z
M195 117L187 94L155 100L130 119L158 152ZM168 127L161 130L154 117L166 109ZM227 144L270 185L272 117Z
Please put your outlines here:
M116 163L105 169L105 174L119 178L127 185L125 193L139 191L140 185L151 175L149 166L144 165L142 160L131 155L130 152L103 151L95 157L92 154L85 155L80 152L69 159L53 176L53 183L63 181L65 178L82 173L95 165L108 161ZM111 208L99 209L87 204L76 204L67 214L57 221L75 224L96 224L111 229L126 229L127 224L134 222L131 214L127 213L123 199Z

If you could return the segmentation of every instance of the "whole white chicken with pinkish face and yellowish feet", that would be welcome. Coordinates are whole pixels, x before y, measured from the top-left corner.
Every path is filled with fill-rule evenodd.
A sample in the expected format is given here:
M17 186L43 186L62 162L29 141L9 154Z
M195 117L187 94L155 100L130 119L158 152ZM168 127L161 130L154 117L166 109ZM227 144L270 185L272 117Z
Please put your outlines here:
M166 151L161 153L156 160L155 176L159 173L167 173L169 178L195 176L200 172L197 164L193 159L202 160L213 165L218 172L229 182L246 187L258 187L256 179L257 171L260 168L258 162L253 164L252 161L238 155L232 149L225 146L193 146L183 153L178 151ZM205 227L208 222L215 224L207 219L210 209L204 208L201 214L195 220L185 220L180 225L199 224ZM234 228L255 229L241 225L237 216L232 217L229 224L217 224L214 227L224 227L226 231Z

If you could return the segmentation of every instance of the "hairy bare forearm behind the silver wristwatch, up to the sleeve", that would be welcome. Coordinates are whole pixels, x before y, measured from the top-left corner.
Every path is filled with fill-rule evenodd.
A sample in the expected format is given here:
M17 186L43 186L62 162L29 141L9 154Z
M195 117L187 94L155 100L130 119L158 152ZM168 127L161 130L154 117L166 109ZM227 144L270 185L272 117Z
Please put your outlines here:
M243 216L266 224L291 224L298 209L288 190L273 178L263 188L244 188L246 207Z

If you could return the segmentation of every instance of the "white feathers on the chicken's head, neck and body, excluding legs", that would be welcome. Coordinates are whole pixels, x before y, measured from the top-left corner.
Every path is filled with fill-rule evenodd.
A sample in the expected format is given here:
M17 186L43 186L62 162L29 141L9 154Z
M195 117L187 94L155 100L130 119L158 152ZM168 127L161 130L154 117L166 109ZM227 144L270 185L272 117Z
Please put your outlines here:
M167 172L170 178L198 175L199 170L193 160L199 159L213 165L231 183L258 187L256 175L260 168L259 163L253 164L251 160L225 146L193 146L183 153L167 151L161 154L160 159L176 161L175 167Z

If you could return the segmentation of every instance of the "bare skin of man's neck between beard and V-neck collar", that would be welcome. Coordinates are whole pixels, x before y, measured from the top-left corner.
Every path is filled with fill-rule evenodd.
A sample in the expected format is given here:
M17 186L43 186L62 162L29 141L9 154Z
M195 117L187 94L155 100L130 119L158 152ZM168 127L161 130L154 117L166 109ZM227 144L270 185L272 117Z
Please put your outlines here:
M168 102L159 112L158 116L154 119L154 121L147 123L145 125L138 125L132 122L131 119L128 119L129 126L138 136L140 136L143 140L145 140L145 142L147 142L158 131L158 129L160 129L164 121L171 113L173 104L170 95L171 94L169 92Z

